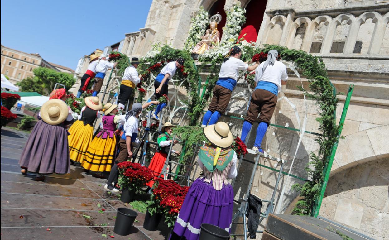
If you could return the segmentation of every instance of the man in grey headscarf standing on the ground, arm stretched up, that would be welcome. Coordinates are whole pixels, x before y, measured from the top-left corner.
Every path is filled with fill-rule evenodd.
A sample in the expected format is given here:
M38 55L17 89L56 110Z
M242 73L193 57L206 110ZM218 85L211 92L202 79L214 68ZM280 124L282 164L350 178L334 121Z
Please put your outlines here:
M105 184L104 188L110 191L118 192L119 189L115 186L117 184L117 177L119 176L119 170L117 169L117 163L127 161L128 158L133 156L132 146L137 140L138 135L138 125L139 125L139 115L142 112L142 109L145 109L151 104L158 104L157 101L147 102L144 105L140 103L134 103L132 109L127 112L125 115L119 116L119 123L123 125L124 133L119 140L118 148L119 154L115 159L115 164L111 168L109 173L108 182Z

